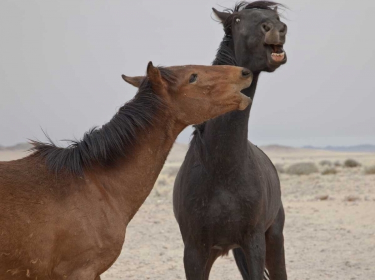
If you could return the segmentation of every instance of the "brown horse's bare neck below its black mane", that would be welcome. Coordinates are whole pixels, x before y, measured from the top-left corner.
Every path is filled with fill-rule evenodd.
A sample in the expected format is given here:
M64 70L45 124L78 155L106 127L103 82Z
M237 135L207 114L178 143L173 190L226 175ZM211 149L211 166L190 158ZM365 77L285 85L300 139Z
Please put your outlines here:
M126 223L149 195L175 139L186 127L176 122L170 111L159 111L153 125L140 135L134 152L112 168L87 174L117 202Z

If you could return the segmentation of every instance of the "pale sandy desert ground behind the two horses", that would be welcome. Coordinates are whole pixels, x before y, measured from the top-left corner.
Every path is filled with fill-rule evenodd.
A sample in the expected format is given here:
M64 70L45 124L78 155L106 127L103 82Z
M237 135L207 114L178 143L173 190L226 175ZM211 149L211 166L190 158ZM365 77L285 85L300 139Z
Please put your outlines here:
M375 153L262 149L280 171L288 279L375 279L375 174L365 174L375 165ZM171 196L186 150L187 145L174 145L154 189L128 225L121 255L102 280L185 278L183 243ZM22 156L20 150L0 151L0 160ZM346 159L361 166L333 164L342 165ZM323 160L332 165L321 165ZM317 167L314 173L289 174L289 166L307 162ZM322 175L328 168L337 173ZM210 279L241 279L231 254L215 262Z

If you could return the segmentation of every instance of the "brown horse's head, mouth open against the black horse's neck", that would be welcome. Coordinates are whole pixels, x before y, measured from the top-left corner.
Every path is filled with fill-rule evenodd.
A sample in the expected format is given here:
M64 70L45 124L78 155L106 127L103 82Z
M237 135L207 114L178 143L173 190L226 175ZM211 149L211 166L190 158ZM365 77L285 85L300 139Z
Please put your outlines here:
M251 99L240 91L250 86L252 73L236 66L147 66L146 77L122 78L141 87L146 81L185 125L196 124L220 114L243 110Z

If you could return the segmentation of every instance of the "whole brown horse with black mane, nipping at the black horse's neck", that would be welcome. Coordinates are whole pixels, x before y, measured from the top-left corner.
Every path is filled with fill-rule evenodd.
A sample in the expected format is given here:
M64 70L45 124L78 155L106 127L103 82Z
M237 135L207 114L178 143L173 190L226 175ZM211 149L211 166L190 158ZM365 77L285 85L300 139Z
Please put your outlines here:
M132 78L123 76L127 81ZM0 279L99 280L177 135L251 99L235 66L147 66L135 97L67 148L0 162Z

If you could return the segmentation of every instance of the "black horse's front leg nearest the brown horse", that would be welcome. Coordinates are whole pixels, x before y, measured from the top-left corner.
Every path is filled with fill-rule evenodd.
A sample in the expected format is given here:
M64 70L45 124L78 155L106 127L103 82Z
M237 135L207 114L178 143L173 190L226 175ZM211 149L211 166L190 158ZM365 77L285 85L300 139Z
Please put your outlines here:
M209 259L209 248L201 245L185 244L183 266L186 280L204 280L206 264Z

